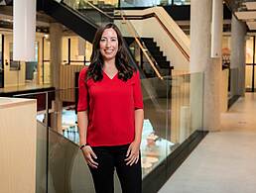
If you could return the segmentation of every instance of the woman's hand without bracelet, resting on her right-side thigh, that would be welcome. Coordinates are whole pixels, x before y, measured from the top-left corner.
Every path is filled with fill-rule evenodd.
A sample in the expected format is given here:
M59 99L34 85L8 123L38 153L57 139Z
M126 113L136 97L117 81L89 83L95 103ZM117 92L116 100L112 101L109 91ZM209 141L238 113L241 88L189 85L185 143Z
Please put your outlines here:
M136 164L140 158L140 143L133 142L132 144L129 145L126 156L127 158L124 159L126 162L126 165L132 165Z

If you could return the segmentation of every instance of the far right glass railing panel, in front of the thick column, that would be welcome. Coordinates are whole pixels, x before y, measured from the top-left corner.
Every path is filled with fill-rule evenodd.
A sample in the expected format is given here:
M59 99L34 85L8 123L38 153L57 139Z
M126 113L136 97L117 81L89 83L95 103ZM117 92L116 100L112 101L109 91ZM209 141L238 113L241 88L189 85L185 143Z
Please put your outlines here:
M202 130L203 74L174 75L169 98L168 140L177 147Z

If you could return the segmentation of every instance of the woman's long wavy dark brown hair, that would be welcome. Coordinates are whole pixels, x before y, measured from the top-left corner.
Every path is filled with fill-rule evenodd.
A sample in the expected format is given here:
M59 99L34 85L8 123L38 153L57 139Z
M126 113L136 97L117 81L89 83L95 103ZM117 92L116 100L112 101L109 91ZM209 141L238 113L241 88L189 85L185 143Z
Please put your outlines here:
M118 39L118 50L115 56L115 65L118 70L118 78L123 81L127 81L132 77L133 72L136 70L134 67L128 64L127 52L124 48L124 40L120 30L115 24L108 23L107 25L100 27L94 36L90 64L87 69L86 79L92 78L94 81L100 81L103 78L102 68L104 61L99 50L99 43L104 30L110 28L116 32Z

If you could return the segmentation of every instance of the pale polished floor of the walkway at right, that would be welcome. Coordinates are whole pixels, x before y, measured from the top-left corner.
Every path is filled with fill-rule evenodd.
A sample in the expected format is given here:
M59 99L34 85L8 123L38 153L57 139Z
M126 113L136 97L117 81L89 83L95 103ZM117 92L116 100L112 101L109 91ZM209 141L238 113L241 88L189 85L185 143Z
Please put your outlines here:
M209 133L159 192L256 192L256 93L221 115L221 131Z

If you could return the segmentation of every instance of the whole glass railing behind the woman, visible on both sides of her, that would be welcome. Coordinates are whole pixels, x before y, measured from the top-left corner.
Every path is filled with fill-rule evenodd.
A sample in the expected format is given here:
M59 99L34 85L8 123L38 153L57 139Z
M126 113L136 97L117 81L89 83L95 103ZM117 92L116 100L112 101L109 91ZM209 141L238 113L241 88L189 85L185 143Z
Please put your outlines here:
M143 180L156 169L170 167L172 162L167 157L195 131L202 130L202 82L201 73L141 80L145 111ZM77 145L77 89L16 97L34 98L38 103L37 192L45 193L46 187L49 192L93 192L88 167ZM161 172L159 177L167 175ZM116 192L121 192L119 183L115 185Z

